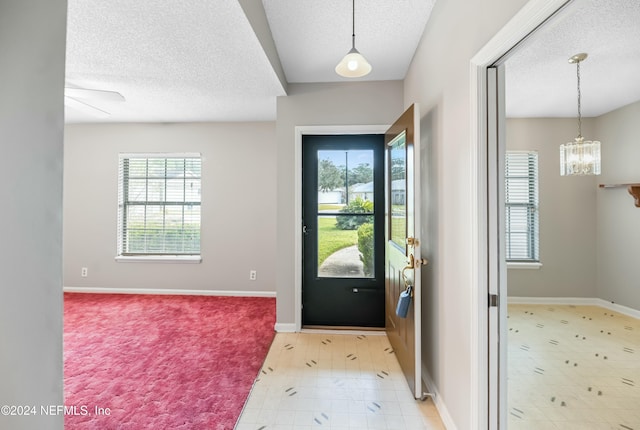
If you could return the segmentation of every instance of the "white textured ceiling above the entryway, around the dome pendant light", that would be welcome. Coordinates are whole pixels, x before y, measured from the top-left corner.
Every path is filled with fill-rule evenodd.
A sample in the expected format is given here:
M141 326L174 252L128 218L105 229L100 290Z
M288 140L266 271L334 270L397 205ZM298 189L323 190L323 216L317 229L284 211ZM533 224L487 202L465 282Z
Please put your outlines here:
M356 48L373 66L359 80L404 79L435 0L357 0ZM333 82L351 49L349 0L263 0L288 82Z

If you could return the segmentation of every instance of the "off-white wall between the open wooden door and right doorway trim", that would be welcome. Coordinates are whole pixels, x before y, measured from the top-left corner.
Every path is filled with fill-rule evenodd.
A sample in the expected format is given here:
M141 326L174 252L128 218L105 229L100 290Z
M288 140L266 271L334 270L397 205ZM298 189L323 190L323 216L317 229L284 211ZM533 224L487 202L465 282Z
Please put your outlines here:
M422 142L428 148L423 174L429 182L423 212L423 251L431 267L423 272L423 359L450 428L482 428L479 402L477 308L472 211L478 160L471 147L470 60L525 4L525 0L446 0L436 2L404 86L405 107L422 108ZM480 343L484 339L480 339ZM481 347L480 347L481 348Z

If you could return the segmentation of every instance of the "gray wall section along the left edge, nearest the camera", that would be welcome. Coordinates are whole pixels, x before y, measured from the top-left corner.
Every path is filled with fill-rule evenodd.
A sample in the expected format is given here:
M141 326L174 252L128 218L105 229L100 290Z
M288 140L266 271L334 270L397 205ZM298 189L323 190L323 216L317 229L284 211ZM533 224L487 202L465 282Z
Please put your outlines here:
M62 429L62 130L66 2L0 2L0 415L3 429Z

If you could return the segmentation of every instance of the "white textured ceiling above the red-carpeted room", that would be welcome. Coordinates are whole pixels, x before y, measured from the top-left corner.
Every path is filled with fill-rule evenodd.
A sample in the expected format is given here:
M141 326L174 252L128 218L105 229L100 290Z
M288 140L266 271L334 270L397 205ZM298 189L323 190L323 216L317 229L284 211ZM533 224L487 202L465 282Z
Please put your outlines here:
M285 94L236 0L69 0L67 84L117 91L68 122L272 120Z

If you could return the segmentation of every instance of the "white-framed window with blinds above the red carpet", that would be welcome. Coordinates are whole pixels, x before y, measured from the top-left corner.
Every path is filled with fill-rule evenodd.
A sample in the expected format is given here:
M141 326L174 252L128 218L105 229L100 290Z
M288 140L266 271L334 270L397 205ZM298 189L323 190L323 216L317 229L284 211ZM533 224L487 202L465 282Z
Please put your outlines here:
M144 200L128 200L127 199L127 187L129 184L129 181L132 179L132 177L130 175L127 174L127 172L125 171L125 160L131 160L131 159L142 159L142 160L146 160L147 162L147 166L146 166L146 171L145 171L145 176L144 179L146 180L145 184L144 184L144 192L145 192L145 199ZM165 171L163 175L159 175L159 176L150 176L149 174L149 167L148 167L148 163L149 160L153 159L153 160L163 160L164 161L164 166L165 166ZM167 172L167 162L170 159L183 159L183 160L188 160L188 159L197 159L198 160L198 164L199 164L199 169L200 169L200 176L199 177L186 177L186 174L183 175L181 178L183 182L185 183L186 186L186 182L191 178L191 179L197 179L200 181L200 189L199 189L199 198L197 199L197 201L188 201L186 198L186 193L183 192L182 195L182 201L178 201L178 200L171 200L169 198L169 196L167 196L167 182L169 180L175 180L176 178L169 176L168 172ZM138 178L138 179L142 179L142 178ZM164 181L164 190L162 193L162 197L159 200L148 200L148 196L149 196L149 182L151 180L155 180L155 181ZM185 189L183 187L183 189ZM127 234L127 208L131 207L131 206L143 206L145 208L147 207L163 207L166 208L167 206L179 206L182 208L185 207L194 207L197 206L200 208L199 210L199 216L197 219L197 223L198 223L198 244L197 244L197 251L186 251L186 252L180 252L177 249L169 249L169 250L162 250L162 251L149 251L149 249L145 249L144 252L128 252L128 250L126 250L126 244L127 244L127 238L126 238L126 234ZM201 207L202 207L202 155L200 153L120 153L118 154L118 214L117 214L117 245L116 245L116 261L118 262L168 262L168 263L199 263L202 261L202 257L201 257L201 252L202 252L202 243L201 243L201 237L202 237L202 213L201 213ZM144 216L144 222L146 224L148 218L147 218L147 214L145 211ZM162 232L163 235L164 233L167 231L165 230L166 225L164 224L164 219L165 219L165 214L163 213L162 217L163 217L163 226L162 226ZM181 214L181 223L182 223L182 227L183 230L181 230L181 232L184 232L184 225L185 225L185 214L184 211L182 211Z

